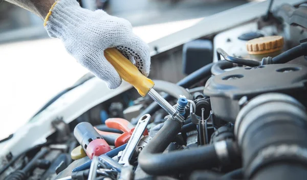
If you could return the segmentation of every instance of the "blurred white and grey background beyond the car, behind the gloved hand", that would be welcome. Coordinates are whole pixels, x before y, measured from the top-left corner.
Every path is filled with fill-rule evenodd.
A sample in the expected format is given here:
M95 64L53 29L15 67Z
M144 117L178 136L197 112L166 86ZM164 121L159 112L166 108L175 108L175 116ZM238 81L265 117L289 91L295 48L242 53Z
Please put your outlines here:
M87 9L123 17L145 42L188 28L202 18L250 1L84 0ZM49 99L87 73L49 38L43 21L15 5L0 4L0 139L25 124Z

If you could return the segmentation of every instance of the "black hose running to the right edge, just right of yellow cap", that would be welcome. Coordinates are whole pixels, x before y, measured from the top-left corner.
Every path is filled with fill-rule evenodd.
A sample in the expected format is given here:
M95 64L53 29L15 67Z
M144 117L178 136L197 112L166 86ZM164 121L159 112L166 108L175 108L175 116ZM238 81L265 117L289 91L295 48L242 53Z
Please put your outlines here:
M304 55L307 55L307 45L301 44L277 55L272 61L273 64L283 64Z

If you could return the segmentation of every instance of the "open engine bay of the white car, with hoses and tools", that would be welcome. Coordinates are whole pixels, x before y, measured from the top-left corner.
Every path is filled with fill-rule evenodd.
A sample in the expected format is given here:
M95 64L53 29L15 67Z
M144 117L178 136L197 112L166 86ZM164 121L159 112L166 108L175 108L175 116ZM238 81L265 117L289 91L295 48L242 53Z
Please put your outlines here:
M181 118L86 74L1 141L0 179L305 179L306 28L307 4L284 4L152 57L182 59L153 80Z

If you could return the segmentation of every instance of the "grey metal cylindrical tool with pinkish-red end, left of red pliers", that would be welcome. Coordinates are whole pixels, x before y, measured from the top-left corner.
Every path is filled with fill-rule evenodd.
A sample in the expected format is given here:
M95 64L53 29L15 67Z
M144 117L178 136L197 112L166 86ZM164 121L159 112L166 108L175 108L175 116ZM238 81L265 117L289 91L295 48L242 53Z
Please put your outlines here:
M74 129L74 136L90 159L111 150L111 147L89 122L80 122L77 124Z

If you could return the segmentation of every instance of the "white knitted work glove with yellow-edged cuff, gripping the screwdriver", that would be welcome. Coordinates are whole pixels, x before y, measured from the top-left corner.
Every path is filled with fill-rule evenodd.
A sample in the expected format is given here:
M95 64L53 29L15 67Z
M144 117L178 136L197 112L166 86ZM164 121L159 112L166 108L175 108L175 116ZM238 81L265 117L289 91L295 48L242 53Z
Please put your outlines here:
M102 10L83 9L76 0L58 0L44 25L50 37L61 39L67 51L111 89L117 88L122 80L104 57L103 52L109 47L116 47L145 76L149 74L149 47L123 18Z

